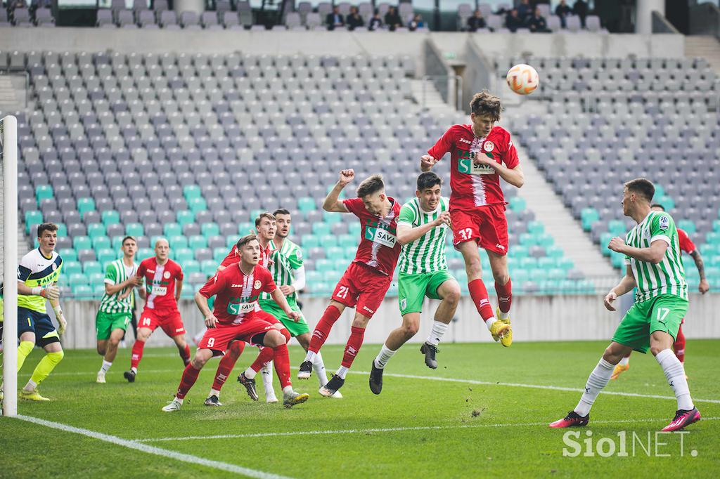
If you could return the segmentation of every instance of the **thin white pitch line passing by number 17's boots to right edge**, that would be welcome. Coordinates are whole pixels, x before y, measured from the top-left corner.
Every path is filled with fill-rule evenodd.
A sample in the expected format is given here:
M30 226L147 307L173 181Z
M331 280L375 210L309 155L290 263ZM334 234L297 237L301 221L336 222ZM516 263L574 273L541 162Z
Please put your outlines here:
M720 417L708 417L701 421L717 421ZM667 418L665 418L667 420ZM617 421L593 421L591 424L642 424L645 422L662 422L663 419L619 419ZM510 424L459 424L455 426L415 426L415 427L387 427L381 429L330 429L321 431L291 431L291 432L256 432L249 434L220 434L217 436L185 436L185 437L150 437L148 439L135 439L135 442L162 442L162 441L192 441L204 439L239 439L253 437L277 437L277 436L315 436L320 434L369 434L374 432L404 432L404 431L438 431L441 429L475 429L475 428L498 428L498 427L531 427L546 426L545 422L523 422Z

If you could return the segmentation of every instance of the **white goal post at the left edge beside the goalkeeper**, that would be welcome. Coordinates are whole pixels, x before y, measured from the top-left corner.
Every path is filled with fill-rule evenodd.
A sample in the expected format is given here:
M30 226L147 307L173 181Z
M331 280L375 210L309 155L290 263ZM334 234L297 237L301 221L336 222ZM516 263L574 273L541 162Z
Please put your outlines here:
M17 416L17 118L0 120L2 170L2 245L0 258L4 283L3 416Z

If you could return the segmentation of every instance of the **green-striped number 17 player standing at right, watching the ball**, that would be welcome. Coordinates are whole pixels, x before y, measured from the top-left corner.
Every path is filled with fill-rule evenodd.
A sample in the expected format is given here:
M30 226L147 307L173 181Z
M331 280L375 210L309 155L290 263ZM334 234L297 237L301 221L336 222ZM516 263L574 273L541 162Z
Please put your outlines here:
M651 211L654 193L654 185L645 178L625 183L623 214L634 219L637 225L625 240L614 237L608 245L625 255L626 273L605 297L605 307L615 311L613 302L617 297L637 288L635 304L625 314L605 354L590 373L580 403L550 427L588 424L590 407L610 381L615 365L632 350L645 353L648 349L660 363L678 400L675 418L662 431L678 431L700 419L700 412L690 398L683 363L672 352L680 321L688 311L688 285L678 229L670 214Z

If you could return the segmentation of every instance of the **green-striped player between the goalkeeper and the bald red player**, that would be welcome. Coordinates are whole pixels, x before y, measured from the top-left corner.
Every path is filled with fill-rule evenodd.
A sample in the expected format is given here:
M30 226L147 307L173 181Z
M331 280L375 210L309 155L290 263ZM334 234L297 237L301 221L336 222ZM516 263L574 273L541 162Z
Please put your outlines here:
M112 366L117 355L117 345L125 334L127 324L132 319L135 298L132 288L143 284L142 278L135 275L138 265L133 258L138 250L138 242L132 236L122 239L122 258L114 260L105 270L105 293L100 300L100 309L95 316L97 334L97 353L103 356L102 367L97 372L96 382L105 382L105 373ZM145 290L140 290L145 297Z

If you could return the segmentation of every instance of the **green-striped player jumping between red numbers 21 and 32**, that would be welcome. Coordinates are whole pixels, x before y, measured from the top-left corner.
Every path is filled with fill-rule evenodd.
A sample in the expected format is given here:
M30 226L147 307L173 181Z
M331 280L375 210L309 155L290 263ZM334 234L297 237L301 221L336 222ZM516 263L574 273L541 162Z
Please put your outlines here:
M438 343L448 329L460 300L460 285L448 272L445 257L445 237L449 229L449 200L441 196L441 179L430 171L418 176L415 198L400 209L397 219L397 241L402 245L398 299L402 326L393 330L372 362L370 390L382 391L382 371L390 357L420 327L420 312L425 297L441 299L435 313L433 329L420 347L425 364L435 369Z

